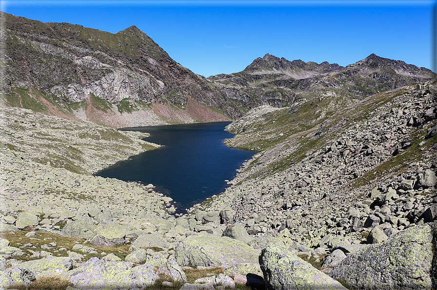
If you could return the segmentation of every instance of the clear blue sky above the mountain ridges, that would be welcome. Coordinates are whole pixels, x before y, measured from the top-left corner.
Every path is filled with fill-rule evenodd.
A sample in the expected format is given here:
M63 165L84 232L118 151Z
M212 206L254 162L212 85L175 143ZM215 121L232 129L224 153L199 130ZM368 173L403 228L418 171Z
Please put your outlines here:
M135 25L205 76L266 53L346 66L377 54L435 71L431 0L10 0L0 10L115 33Z

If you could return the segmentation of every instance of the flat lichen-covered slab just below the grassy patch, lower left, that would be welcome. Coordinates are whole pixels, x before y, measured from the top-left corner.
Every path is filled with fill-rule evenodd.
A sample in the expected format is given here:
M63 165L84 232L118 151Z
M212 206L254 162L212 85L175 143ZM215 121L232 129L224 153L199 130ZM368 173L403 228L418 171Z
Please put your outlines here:
M73 260L70 257L48 256L42 259L20 263L19 267L34 273L36 278L56 276L73 269Z

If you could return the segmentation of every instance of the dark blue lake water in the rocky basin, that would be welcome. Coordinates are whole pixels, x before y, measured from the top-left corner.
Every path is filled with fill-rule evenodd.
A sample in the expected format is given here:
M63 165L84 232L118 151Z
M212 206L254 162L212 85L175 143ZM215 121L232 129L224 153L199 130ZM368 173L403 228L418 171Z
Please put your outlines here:
M150 133L144 140L164 145L97 172L101 177L152 183L155 191L175 202L176 213L228 187L244 161L256 152L229 148L223 140L230 122L130 127L122 130Z

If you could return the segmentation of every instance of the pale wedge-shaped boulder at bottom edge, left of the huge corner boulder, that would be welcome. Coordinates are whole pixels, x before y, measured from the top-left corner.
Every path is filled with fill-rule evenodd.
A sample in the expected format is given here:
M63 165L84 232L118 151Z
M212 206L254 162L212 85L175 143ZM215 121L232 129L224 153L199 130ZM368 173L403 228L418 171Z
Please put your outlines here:
M338 281L279 246L266 247L259 259L266 290L346 290Z

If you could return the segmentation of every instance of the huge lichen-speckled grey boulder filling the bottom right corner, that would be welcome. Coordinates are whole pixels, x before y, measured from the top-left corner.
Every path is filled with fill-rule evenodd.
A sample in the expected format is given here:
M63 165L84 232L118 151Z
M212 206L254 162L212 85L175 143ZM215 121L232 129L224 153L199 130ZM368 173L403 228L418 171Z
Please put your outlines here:
M329 274L356 289L431 289L433 227L410 227L383 243L349 254Z

